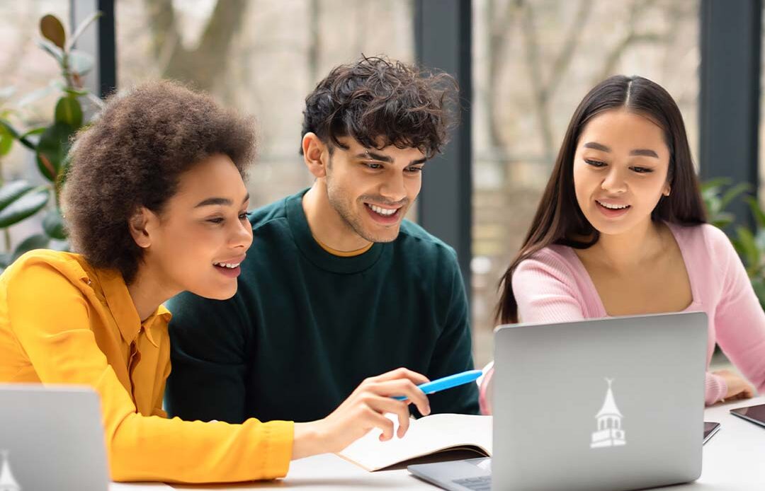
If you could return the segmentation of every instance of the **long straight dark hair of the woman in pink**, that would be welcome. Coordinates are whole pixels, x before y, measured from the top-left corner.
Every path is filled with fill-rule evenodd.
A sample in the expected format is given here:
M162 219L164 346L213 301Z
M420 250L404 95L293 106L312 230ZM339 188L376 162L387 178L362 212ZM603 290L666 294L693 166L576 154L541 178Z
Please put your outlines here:
M664 140L669 147L667 180L672 192L669 196L662 195L651 212L651 219L681 225L706 222L685 124L672 96L655 82L641 76L612 76L584 96L568 123L552 176L545 187L529 233L500 280L502 296L496 308L498 323L518 321L513 272L522 260L551 244L586 249L596 244L600 238L598 231L584 218L576 200L574 155L584 126L602 112L619 108L643 115L658 124L664 131ZM582 242L575 240L575 237L590 237L590 240Z

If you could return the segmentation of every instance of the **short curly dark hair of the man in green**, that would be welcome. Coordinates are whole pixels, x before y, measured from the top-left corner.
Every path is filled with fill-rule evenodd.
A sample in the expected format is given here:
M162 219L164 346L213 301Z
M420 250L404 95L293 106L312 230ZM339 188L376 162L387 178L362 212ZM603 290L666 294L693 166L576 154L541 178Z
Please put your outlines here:
M385 57L336 66L305 99L303 135L325 143L350 136L363 147L417 148L433 157L457 122L457 82ZM302 153L302 149L301 149Z

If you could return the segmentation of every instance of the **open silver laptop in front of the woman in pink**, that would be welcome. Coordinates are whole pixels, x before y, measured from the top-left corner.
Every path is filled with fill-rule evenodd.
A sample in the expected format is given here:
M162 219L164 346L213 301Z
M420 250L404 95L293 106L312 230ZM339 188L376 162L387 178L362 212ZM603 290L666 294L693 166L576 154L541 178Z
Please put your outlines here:
M702 312L497 328L493 459L409 470L454 491L695 480L707 343Z

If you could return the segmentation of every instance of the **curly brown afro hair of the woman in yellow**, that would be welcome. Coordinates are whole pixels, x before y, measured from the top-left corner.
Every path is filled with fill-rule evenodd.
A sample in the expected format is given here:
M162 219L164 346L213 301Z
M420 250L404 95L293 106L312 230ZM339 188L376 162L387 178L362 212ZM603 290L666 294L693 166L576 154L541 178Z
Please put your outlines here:
M62 201L74 250L132 283L143 250L128 222L138 208L161 213L181 174L212 155L227 155L244 178L255 141L252 118L177 82L112 95L71 150Z

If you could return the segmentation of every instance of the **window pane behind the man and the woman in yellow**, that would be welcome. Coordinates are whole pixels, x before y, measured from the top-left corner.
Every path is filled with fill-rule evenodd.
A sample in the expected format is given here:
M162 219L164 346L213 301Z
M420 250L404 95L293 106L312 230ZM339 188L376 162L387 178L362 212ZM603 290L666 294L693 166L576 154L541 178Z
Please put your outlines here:
M256 115L249 191L265 205L312 182L298 153L308 92L362 53L414 61L413 19L411 0L120 0L119 86L181 79Z

